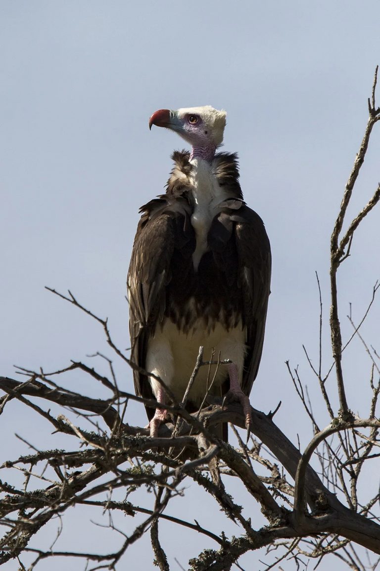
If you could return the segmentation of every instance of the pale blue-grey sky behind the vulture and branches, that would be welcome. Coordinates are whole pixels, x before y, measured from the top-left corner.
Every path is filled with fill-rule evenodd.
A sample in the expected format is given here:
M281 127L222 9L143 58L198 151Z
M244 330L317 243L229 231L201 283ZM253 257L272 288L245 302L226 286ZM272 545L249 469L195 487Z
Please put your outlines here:
M326 322L329 237L367 120L380 63L379 20L378 0L1 0L0 375L14 376L14 364L49 371L107 352L100 328L44 286L70 288L109 317L117 343L128 347L125 278L138 207L162 193L170 153L183 146L173 133L149 132L148 118L162 107L211 104L227 110L224 150L239 153L244 198L272 244L267 335L251 403L268 412L282 400L277 424L293 440L299 433L304 447L311 432L284 361L300 364L317 395L302 344L317 359L315 271ZM379 154L377 128L351 215L377 186ZM342 268L345 336L349 303L361 317L380 278L379 227L377 210ZM377 304L363 329L374 345L379 322ZM325 329L326 368L328 340ZM365 416L370 367L360 345L354 348L345 364L348 400ZM132 375L119 373L132 391ZM71 382L95 394L88 383ZM318 419L328 421L323 409ZM37 444L49 428L33 416L13 420L2 451L9 456L20 447L15 431ZM144 425L144 408L131 408L128 421ZM183 502L179 510L187 509ZM182 565L204 546L191 538L181 547ZM173 562L178 553L168 552ZM140 554L133 569L150 569L149 549ZM251 554L242 565L250 569L257 560Z

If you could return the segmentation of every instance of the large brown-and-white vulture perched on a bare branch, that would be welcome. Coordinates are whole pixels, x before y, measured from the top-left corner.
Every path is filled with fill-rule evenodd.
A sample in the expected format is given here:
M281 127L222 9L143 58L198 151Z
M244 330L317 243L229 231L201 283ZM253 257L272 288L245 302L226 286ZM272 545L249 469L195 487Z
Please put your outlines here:
M152 125L191 150L173 152L166 194L140 208L127 280L134 388L161 405L170 395L181 403L202 345L205 359L231 363L201 367L186 408L198 410L207 396L238 400L249 431L271 281L267 232L243 200L237 155L216 152L225 111L160 109ZM167 411L146 411L156 436Z

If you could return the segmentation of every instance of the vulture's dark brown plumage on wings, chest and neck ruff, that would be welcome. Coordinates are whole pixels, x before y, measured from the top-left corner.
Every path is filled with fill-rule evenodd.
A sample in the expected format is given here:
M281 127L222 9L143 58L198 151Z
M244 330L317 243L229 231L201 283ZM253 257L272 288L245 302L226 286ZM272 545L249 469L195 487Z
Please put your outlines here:
M128 272L131 359L146 370L152 361L152 357L148 359L148 351L153 351L153 340L164 336L170 327L183 334L184 346L195 329L205 345L219 325L227 337L229 332L240 330L246 349L239 382L248 396L263 349L271 279L268 236L259 215L243 201L236 155L220 152L214 156L210 171L223 192L223 200L215 209L207 231L207 250L196 267L197 235L192 218L194 162L187 151L175 151L172 158L174 167L166 194L140 209L142 215ZM173 345L173 341L170 343ZM194 365L196 357L197 353ZM221 357L230 358L228 354ZM181 372L181 363L175 366L177 373ZM227 367L220 375L222 378L211 390L216 395L228 391ZM155 397L148 376L134 370L133 377L138 396ZM181 399L182 387L188 381L186 376L167 383L171 389L178 383L181 385L178 392ZM198 393L190 393L189 405L199 406ZM148 408L147 413L152 419L154 409Z

